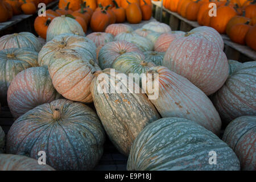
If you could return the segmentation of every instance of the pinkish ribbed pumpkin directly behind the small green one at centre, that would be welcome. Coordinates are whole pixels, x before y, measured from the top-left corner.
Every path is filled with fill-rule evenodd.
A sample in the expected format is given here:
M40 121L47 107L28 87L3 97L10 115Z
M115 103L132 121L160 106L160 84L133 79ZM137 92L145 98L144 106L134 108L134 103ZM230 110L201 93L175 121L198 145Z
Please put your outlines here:
M114 60L126 52L140 52L135 44L126 41L114 41L105 44L98 54L98 61L101 69L112 68Z

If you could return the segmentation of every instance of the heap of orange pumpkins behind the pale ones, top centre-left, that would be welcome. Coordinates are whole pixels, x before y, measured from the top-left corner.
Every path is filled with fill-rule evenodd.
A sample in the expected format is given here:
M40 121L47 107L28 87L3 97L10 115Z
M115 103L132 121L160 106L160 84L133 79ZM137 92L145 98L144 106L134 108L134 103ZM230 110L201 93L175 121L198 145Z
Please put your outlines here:
M46 10L46 16L35 19L34 27L36 33L46 39L48 27L54 24L51 22L58 22L61 17L75 19L86 33L89 26L94 32L104 32L109 24L123 23L126 19L129 23L140 23L149 20L151 15L151 0L60 0L59 9Z

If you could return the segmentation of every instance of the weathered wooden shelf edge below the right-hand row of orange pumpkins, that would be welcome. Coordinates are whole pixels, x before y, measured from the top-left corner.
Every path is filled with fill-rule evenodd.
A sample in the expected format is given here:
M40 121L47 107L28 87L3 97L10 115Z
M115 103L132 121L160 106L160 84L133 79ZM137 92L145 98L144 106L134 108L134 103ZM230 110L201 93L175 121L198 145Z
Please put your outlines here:
M190 21L177 13L174 13L170 10L162 7L162 2L152 1L153 9L155 13L155 19L169 24L172 30L181 30L188 32L193 28L200 27L200 25L195 21ZM161 16L159 15L161 14ZM238 60L241 62L245 61L255 61L256 52L248 46L243 46L237 43L232 42L227 35L221 34L222 39L224 40L224 52L228 59Z

